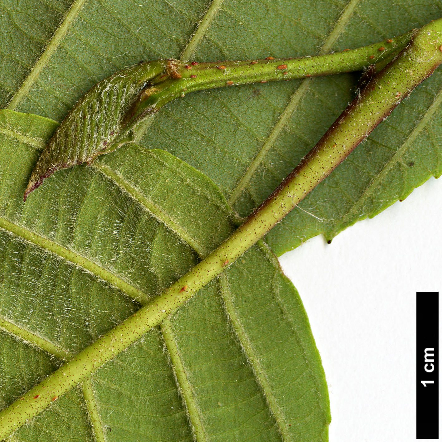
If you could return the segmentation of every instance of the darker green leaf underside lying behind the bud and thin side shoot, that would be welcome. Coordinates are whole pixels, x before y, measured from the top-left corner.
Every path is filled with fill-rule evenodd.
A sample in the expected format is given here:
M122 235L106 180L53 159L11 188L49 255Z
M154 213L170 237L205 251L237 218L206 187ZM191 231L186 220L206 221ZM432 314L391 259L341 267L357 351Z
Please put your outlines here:
M74 7L79 4L83 0L76 0ZM183 50L185 58L198 61L311 55L318 48L323 53L381 41L442 15L442 3L429 0L321 0L314 8L287 0L255 3L253 8L248 2L215 0L206 11L207 6L202 1L158 0L141 6L86 1L70 26L62 26L60 46L53 49L57 42L49 43L53 55L46 64L30 72L29 92L16 91L23 82L23 66L11 61L17 67L9 65L5 71L3 99L19 95L17 110L61 121L97 81L142 60L179 58ZM48 6L23 6L34 17L45 15L42 8ZM11 12L5 15L4 28L11 29L21 15L7 9ZM192 23L201 18L202 26L195 28ZM42 24L32 26L42 34ZM47 26L44 21L45 30ZM16 37L13 44L5 38L5 52L20 52L17 45L23 50L28 45L21 29ZM39 50L44 47L41 41ZM37 50L29 65L35 60ZM277 255L319 233L331 240L358 219L405 198L430 176L440 175L435 99L440 72L270 232L266 240ZM161 110L140 144L166 149L202 171L232 207L247 216L319 140L351 101L357 84L358 76L347 74L186 95Z

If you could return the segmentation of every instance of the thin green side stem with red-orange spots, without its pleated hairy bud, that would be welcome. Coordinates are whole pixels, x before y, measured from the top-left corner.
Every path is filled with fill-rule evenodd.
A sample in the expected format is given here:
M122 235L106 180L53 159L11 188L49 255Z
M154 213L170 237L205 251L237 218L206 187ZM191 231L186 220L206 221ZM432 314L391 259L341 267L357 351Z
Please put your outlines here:
M267 57L265 60L189 64L171 60L166 72L152 80L152 86L141 92L139 100L128 113L126 126L132 128L166 103L190 92L360 71L394 57L408 45L412 34L408 32L370 46L316 57Z

